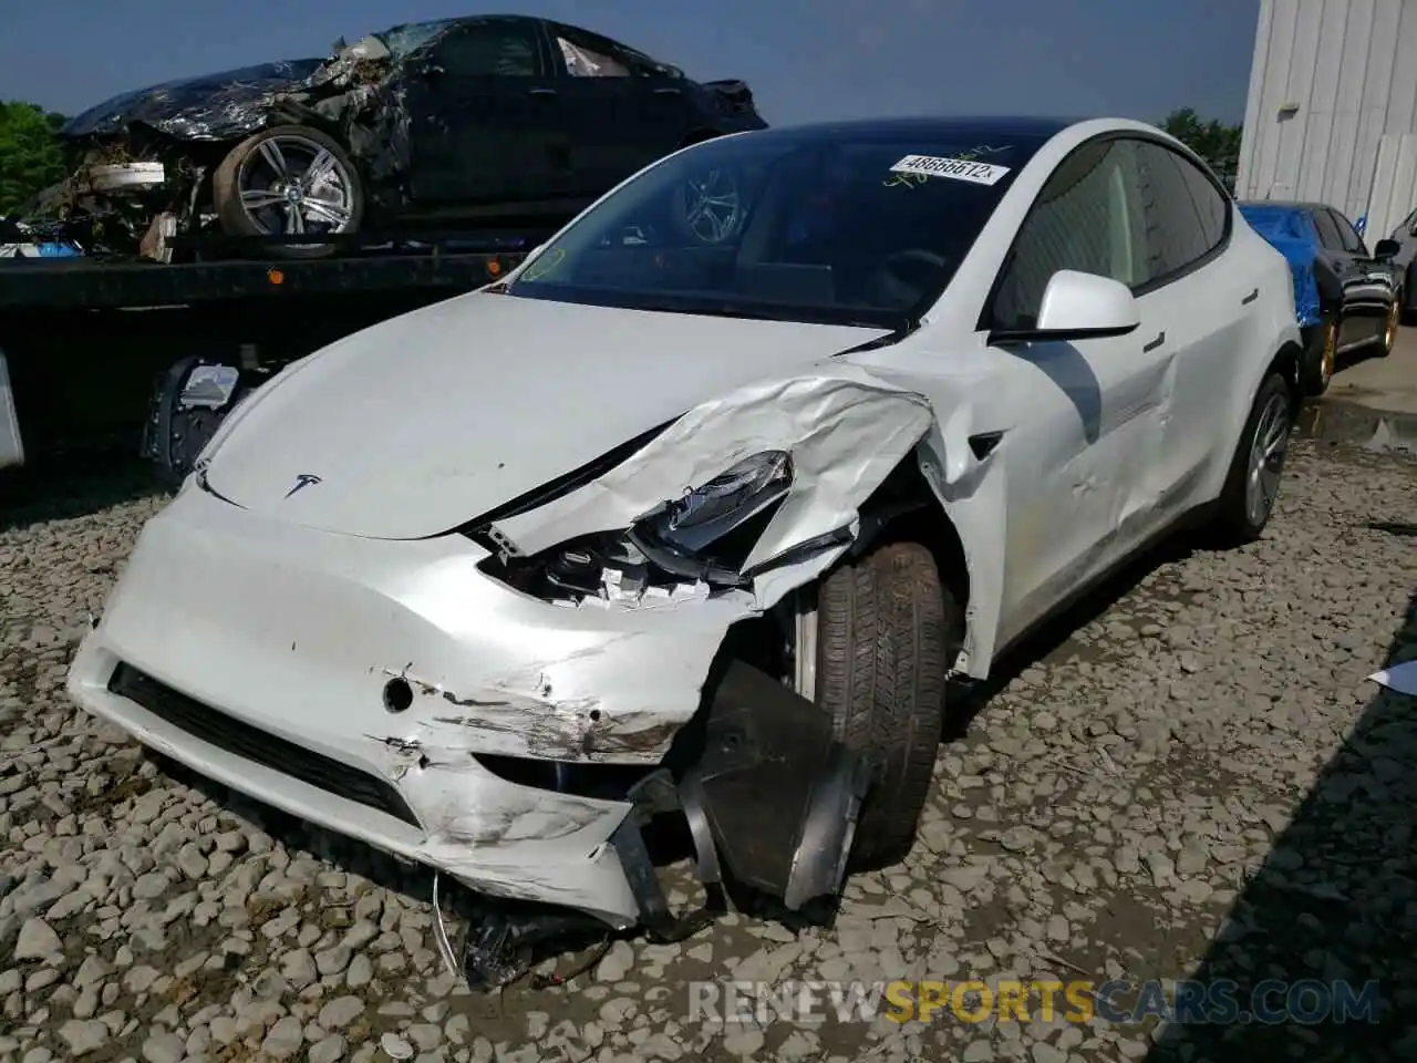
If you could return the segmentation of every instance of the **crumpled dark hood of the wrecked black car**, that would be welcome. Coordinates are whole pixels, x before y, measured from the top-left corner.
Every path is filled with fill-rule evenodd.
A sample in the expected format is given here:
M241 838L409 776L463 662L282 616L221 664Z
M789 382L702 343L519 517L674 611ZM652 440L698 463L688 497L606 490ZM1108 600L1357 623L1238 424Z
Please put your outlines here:
M258 129L271 96L300 88L326 61L262 62L125 92L71 118L60 136L111 136L139 122L181 140L230 140Z

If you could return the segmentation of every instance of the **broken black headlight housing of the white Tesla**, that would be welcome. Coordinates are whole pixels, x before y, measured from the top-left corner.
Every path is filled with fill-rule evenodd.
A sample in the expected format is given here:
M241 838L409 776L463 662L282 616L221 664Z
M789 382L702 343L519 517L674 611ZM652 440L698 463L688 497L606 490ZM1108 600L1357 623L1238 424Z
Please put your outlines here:
M700 583L744 587L743 564L792 488L792 455L761 451L666 502L622 532L585 536L485 568L540 598L673 597Z

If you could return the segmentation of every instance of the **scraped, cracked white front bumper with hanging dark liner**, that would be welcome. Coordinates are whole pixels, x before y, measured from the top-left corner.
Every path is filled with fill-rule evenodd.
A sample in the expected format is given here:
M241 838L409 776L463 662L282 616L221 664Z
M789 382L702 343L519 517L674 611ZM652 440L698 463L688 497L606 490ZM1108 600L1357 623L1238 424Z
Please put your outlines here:
M490 897L669 934L640 828L672 809L706 883L789 909L839 889L866 771L791 687L718 669L741 601L567 609L486 558L462 536L285 524L188 483L68 690L204 775Z

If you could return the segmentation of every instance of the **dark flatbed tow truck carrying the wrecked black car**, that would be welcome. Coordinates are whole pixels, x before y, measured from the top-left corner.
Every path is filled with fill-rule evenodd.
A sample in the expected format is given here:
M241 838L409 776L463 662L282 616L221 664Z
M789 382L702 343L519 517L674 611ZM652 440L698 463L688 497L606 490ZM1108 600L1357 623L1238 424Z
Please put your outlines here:
M0 259L0 468L118 444L177 482L279 369L495 282L547 235L363 237L329 258L273 255L266 240L177 264Z

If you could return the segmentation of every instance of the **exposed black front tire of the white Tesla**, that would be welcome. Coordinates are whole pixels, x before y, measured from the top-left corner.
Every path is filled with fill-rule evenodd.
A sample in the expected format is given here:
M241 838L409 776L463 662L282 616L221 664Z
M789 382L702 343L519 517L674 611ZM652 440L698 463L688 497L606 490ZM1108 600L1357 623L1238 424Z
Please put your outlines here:
M836 567L818 591L816 702L837 740L873 761L850 866L910 852L935 771L945 655L959 607L930 550L888 543Z

